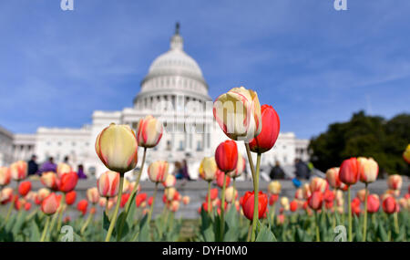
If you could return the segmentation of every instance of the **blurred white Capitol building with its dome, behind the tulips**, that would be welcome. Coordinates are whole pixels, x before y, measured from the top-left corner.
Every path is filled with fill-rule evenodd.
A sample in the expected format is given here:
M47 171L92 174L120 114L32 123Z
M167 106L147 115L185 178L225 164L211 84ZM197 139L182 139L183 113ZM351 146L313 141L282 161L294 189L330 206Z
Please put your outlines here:
M233 87L240 86L228 86L220 92ZM281 111L278 113L281 115ZM163 123L164 134L159 145L148 150L147 163L166 160L172 171L175 161L186 160L193 179L198 178L202 158L213 155L220 142L228 139L213 119L208 84L198 63L184 51L178 25L170 38L169 50L154 59L142 79L132 106L119 111L95 110L91 123L80 129L39 127L36 133L18 134L0 127L0 166L16 160L27 161L33 154L37 156L37 163L50 156L60 162L67 156L75 171L77 165L82 164L87 175L98 176L107 169L94 148L97 134L111 122L128 124L136 130L138 120L149 114ZM292 165L296 158L306 161L308 144L309 140L297 139L292 132L281 132L274 148L261 157L261 165L269 167L275 161L284 166ZM241 141L238 148L246 158ZM142 154L139 148L138 167ZM142 179L147 178L147 168ZM128 177L132 179L134 173L128 172Z

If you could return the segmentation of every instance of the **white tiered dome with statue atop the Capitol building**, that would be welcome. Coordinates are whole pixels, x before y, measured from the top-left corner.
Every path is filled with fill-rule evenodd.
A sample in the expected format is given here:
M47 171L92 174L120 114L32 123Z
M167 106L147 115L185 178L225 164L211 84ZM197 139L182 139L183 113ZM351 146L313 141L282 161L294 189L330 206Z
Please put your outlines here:
M171 101L175 107L175 100L180 96L184 96L185 101L205 103L210 100L208 84L200 66L183 50L183 39L177 24L169 50L154 59L148 75L142 80L134 107L151 109L161 100Z

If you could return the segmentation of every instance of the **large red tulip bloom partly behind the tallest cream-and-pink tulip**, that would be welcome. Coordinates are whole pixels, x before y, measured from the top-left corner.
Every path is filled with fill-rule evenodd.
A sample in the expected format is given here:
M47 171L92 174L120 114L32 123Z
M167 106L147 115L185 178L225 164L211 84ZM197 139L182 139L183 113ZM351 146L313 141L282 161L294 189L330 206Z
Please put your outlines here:
M251 140L251 151L263 153L270 151L279 136L281 121L275 109L269 105L261 106L261 133Z

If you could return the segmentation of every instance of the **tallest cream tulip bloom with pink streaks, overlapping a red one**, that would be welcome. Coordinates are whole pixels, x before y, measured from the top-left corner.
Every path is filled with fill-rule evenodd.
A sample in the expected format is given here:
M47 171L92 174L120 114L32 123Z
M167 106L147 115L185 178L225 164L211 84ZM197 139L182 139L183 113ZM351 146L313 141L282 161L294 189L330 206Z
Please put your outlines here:
M249 140L261 133L261 104L258 94L246 88L232 88L213 103L213 116L232 140Z

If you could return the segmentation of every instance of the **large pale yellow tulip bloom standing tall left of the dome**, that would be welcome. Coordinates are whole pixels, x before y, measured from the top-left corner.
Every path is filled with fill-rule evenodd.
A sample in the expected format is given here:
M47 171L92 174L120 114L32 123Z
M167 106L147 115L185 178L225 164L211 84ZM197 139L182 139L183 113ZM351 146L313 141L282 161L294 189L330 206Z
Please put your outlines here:
M131 171L138 161L138 143L134 131L128 125L110 124L96 140L99 159L113 172Z

